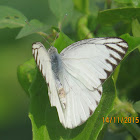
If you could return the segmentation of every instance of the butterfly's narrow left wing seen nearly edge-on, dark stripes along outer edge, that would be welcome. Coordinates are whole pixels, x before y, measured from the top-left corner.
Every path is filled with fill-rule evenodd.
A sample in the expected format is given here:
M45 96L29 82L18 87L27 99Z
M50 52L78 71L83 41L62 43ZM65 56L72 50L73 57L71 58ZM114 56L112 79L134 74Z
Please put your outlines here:
M36 64L38 65L38 68L40 69L46 83L48 84L48 94L51 106L56 106L59 114L59 120L63 125L65 125L64 113L62 111L62 107L59 101L48 52L43 46L43 44L41 44L40 42L36 42L32 46L32 53Z

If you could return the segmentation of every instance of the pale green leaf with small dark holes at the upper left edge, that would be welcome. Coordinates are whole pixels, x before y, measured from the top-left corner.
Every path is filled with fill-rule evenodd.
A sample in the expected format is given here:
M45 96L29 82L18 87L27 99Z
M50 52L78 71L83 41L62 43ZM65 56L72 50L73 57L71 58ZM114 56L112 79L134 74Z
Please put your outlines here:
M18 28L25 26L27 18L18 10L0 6L0 28Z

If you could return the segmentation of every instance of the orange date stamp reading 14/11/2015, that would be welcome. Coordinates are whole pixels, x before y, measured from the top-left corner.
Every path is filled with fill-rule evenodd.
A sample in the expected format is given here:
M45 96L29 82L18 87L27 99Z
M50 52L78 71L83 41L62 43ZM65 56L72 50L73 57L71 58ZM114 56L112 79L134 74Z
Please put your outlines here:
M103 117L103 123L139 123L139 117Z

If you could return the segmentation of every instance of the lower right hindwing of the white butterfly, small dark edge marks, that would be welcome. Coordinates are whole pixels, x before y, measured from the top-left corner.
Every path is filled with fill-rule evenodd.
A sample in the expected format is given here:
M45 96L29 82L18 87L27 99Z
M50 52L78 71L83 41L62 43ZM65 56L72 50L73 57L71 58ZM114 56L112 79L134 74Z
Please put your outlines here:
M75 128L84 123L96 109L101 95L95 90L88 90L81 81L72 76L65 67L60 81L66 93L65 128ZM102 87L99 87L102 92Z

